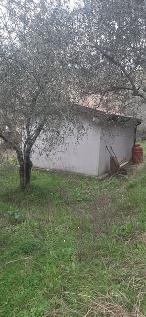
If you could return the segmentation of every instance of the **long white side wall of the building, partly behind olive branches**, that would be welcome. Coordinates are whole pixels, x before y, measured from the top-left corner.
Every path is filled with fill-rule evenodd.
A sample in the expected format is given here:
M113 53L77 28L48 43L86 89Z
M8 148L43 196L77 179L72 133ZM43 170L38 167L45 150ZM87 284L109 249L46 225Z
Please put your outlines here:
M76 144L75 136L68 137L64 146L61 145L57 148L57 154L53 155L52 152L49 158L45 153L41 157L39 156L39 146L42 147L40 136L32 154L33 166L97 176L101 128L99 123L92 122L92 125L90 123L84 119L83 125L88 129L88 137L84 136L80 140L80 144ZM67 151L64 151L66 148Z

